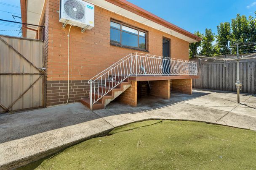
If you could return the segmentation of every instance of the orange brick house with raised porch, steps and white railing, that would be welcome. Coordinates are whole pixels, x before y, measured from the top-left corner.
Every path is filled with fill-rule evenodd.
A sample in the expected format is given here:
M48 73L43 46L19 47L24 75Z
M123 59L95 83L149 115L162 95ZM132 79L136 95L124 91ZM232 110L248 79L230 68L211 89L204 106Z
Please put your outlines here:
M197 69L187 61L189 43L200 37L126 0L85 1L94 5L94 27L82 33L63 28L60 0L21 0L22 22L44 26L22 30L45 42L46 107L82 102L98 109L113 99L136 106L149 94L192 94Z

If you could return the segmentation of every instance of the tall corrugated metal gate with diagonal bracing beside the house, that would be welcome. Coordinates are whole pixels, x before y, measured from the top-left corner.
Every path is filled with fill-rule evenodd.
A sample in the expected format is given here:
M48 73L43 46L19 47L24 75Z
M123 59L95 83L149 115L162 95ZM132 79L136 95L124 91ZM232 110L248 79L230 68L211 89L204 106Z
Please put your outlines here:
M0 113L44 107L44 43L0 35Z

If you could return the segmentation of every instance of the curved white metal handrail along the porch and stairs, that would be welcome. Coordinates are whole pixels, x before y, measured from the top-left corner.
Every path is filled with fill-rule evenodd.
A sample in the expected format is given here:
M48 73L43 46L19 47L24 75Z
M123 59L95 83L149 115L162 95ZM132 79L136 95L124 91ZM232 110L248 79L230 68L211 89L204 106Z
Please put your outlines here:
M90 107L129 76L197 75L194 61L132 53L91 78Z

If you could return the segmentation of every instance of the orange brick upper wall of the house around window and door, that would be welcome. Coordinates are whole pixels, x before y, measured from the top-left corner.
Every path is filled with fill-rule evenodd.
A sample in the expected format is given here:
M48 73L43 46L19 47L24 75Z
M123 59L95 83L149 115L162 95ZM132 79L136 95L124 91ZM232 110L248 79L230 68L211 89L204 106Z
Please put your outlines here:
M69 25L62 29L58 10L59 0L48 0L45 8L47 84L52 84L51 81L67 81L68 75L67 34ZM171 57L188 60L188 42L95 6L95 27L93 29L81 33L80 28L73 26L70 30L70 80L88 80L126 55L141 52L110 45L111 18L148 31L149 54L162 55L162 39L165 37L171 39ZM48 91L46 96L49 96L49 93L51 91ZM48 105L51 103L48 102Z

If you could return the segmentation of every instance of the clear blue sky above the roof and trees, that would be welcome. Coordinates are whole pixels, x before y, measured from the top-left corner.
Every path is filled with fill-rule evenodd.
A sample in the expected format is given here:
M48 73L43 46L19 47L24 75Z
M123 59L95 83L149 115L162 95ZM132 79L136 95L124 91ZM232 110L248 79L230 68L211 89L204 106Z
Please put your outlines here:
M216 26L219 23L231 22L237 13L248 17L254 16L254 11L256 11L256 0L128 1L192 33L194 31L204 32L205 28L211 28L216 33ZM20 6L19 3L20 0L0 0L0 19L14 21L12 15L21 16L20 8L12 6ZM21 20L16 18L16 21ZM18 30L18 25L0 21L0 30ZM0 34L12 36L18 36L18 33L19 31L0 31Z

